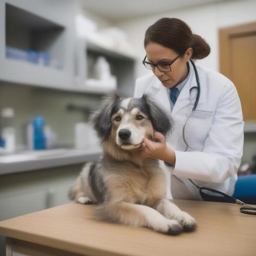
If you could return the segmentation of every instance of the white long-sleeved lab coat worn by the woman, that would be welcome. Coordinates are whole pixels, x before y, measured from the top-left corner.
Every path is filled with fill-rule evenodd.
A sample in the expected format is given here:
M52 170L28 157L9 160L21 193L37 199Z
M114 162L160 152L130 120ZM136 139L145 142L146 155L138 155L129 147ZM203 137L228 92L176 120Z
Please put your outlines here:
M172 113L169 90L153 73L136 80L134 97L150 93L160 106L171 113L175 121L174 131L166 138L166 143L175 151L176 164L167 166L161 161L161 165L171 174L169 184L173 198L202 200L199 189L189 179L198 186L233 195L244 143L244 121L236 87L222 74L196 66L201 94L197 111L189 118L185 128L186 141L193 149L184 151L186 144L183 141L182 128L186 117L192 111L197 94L196 89L189 93L190 88L197 86L190 61L189 65L192 72L175 102Z

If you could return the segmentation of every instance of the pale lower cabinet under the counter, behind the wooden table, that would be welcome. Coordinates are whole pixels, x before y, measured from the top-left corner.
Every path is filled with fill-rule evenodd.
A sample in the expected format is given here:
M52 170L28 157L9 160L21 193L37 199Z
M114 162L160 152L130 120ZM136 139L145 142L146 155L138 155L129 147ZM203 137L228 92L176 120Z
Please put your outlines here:
M68 192L82 166L0 175L0 221L70 202ZM3 236L0 236L0 255L5 255Z

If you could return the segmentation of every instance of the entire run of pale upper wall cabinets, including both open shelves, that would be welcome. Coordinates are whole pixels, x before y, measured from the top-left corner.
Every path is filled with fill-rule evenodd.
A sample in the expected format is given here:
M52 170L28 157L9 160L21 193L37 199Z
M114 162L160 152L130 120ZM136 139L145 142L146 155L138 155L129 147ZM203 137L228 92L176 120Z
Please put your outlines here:
M110 64L117 90L132 96L136 58L76 35L73 0L0 0L0 81L78 93L105 94L108 81L92 81L99 56Z

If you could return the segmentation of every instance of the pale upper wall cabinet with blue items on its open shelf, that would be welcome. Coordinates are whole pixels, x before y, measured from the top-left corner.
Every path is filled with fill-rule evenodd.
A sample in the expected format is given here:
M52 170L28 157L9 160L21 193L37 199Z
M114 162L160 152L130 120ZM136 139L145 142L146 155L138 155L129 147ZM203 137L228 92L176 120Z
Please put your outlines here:
M70 88L73 1L0 0L0 80Z

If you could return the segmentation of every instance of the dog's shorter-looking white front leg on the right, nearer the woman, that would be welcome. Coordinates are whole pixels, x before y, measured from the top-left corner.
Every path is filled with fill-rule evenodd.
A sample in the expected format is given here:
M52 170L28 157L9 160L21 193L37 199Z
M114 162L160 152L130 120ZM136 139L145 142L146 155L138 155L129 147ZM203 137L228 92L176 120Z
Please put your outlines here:
M160 199L154 209L162 213L166 218L177 220L183 227L184 231L193 231L197 224L195 219L187 212L180 210L177 205L171 203L168 199Z

